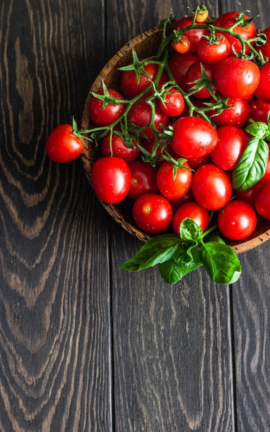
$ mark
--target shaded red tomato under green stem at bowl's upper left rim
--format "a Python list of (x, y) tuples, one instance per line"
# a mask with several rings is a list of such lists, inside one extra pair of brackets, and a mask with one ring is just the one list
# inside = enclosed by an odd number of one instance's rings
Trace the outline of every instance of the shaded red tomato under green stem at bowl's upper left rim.
[[(154, 81), (157, 75), (158, 65), (155, 63), (148, 63), (144, 66), (144, 71), (145, 73), (141, 73), (138, 80), (135, 70), (122, 70), (121, 90), (127, 99), (133, 99), (133, 97), (139, 95), (151, 85), (151, 81)], [(168, 81), (168, 79), (163, 72), (158, 86), (161, 88), (166, 81)]]

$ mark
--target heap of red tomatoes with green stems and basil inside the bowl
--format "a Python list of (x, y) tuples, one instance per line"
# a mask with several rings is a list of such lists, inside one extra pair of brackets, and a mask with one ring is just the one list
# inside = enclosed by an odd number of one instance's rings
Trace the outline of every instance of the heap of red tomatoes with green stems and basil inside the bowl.
[(270, 30), (243, 12), (207, 17), (170, 17), (156, 57), (134, 50), (120, 87), (92, 94), (92, 183), (108, 204), (131, 202), (146, 233), (180, 235), (191, 218), (240, 240), (270, 219)]

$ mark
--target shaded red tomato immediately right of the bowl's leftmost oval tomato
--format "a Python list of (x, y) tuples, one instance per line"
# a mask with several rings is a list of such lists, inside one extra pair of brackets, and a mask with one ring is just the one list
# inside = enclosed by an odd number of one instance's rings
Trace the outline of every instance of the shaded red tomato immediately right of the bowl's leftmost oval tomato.
[(157, 193), (157, 168), (144, 161), (134, 161), (131, 168), (131, 187), (128, 198), (137, 199), (144, 193)]

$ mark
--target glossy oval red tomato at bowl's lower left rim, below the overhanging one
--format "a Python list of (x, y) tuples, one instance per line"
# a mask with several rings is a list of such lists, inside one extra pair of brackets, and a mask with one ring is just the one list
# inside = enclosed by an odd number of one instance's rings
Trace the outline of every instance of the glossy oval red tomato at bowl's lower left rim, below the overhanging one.
[(120, 157), (101, 157), (93, 164), (91, 179), (97, 197), (108, 204), (115, 204), (128, 193), (131, 170)]

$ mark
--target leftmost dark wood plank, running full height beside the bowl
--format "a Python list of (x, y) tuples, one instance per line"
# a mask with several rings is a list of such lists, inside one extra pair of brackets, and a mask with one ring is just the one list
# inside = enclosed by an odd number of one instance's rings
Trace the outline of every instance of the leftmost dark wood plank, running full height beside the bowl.
[(1, 2), (1, 431), (112, 429), (107, 217), (44, 153), (104, 64), (100, 6)]

